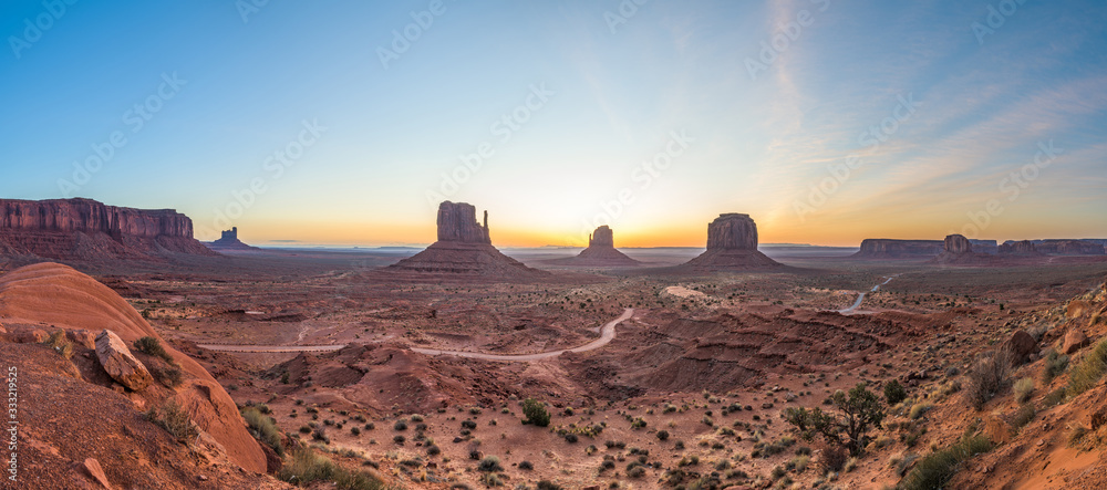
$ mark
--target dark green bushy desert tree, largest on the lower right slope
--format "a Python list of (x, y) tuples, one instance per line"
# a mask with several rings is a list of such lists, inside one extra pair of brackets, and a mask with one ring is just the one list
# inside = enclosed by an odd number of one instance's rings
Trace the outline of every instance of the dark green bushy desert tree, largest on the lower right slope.
[(872, 427), (879, 428), (884, 419), (880, 398), (865, 383), (860, 383), (848, 394), (835, 392), (830, 396), (830, 403), (841, 413), (827, 413), (821, 408), (788, 408), (784, 410), (784, 417), (788, 424), (799, 429), (799, 436), (805, 440), (819, 435), (831, 445), (849, 449), (851, 456), (860, 456), (868, 442), (866, 434)]

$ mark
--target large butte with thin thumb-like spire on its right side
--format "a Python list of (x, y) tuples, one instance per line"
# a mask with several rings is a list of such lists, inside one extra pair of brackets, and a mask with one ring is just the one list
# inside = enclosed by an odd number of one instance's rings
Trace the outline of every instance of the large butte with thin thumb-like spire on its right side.
[(492, 246), (488, 211), (477, 222), (476, 208), (466, 202), (438, 205), (438, 241), (385, 268), (387, 272), (476, 275), (493, 279), (539, 279), (549, 272), (531, 269)]

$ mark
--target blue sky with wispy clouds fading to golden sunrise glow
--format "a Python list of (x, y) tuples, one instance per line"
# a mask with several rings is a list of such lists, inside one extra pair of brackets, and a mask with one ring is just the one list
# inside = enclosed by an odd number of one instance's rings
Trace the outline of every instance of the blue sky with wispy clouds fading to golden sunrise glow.
[[(72, 3), (70, 3), (72, 2)], [(0, 197), (201, 240), (1107, 238), (1103, 1), (6, 1)]]

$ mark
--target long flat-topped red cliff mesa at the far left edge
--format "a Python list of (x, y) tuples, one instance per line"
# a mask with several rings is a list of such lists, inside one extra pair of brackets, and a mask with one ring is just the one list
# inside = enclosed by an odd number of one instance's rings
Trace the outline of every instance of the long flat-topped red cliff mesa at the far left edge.
[(0, 199), (0, 254), (56, 260), (216, 256), (172, 209), (105, 206), (91, 199)]

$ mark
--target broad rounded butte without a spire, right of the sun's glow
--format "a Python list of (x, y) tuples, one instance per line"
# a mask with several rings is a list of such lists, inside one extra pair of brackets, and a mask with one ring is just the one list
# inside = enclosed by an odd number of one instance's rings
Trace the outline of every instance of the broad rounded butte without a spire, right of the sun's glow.
[(749, 215), (727, 212), (707, 225), (707, 251), (684, 263), (705, 270), (756, 270), (782, 267), (757, 251), (757, 225)]

